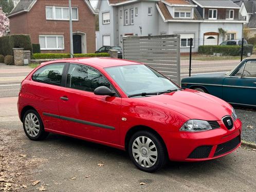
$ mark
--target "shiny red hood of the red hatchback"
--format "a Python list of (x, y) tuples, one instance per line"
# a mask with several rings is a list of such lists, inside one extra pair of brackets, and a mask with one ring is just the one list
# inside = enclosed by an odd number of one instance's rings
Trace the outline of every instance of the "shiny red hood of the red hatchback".
[(170, 108), (189, 119), (217, 121), (232, 113), (232, 107), (227, 102), (191, 89), (138, 99)]

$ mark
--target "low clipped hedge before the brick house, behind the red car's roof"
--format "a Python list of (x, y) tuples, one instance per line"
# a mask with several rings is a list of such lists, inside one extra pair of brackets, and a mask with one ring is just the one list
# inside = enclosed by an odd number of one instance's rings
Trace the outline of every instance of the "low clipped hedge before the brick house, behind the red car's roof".
[[(109, 56), (108, 53), (82, 53), (74, 54), (74, 57), (103, 57)], [(70, 58), (69, 53), (33, 53), (33, 59), (65, 59)]]

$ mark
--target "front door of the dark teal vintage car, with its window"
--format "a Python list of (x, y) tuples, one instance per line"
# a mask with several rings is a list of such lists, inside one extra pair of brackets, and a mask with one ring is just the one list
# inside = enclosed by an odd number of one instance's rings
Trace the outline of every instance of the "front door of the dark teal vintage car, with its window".
[(223, 99), (233, 104), (256, 106), (256, 60), (242, 63), (223, 82)]

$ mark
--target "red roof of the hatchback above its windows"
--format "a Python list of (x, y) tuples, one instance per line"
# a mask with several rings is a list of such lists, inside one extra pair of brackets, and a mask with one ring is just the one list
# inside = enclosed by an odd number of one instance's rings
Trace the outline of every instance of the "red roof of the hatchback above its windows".
[(101, 68), (105, 67), (115, 67), (115, 66), (122, 66), (122, 65), (138, 65), (141, 63), (129, 61), (129, 60), (122, 60), (122, 59), (115, 59), (110, 57), (83, 57), (83, 58), (70, 58), (70, 59), (64, 59), (64, 60), (55, 60), (50, 62), (42, 63), (42, 65), (47, 65), (51, 63), (79, 63), (79, 64), (85, 64), (90, 66), (98, 66)]

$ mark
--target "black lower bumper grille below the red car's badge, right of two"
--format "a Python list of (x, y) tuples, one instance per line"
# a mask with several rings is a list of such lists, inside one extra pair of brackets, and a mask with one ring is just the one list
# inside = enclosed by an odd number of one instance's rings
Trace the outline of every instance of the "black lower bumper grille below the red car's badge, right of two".
[(235, 147), (237, 147), (237, 145), (239, 145), (240, 142), (241, 142), (240, 136), (237, 136), (236, 138), (234, 138), (226, 143), (222, 143), (222, 144), (218, 145), (214, 152), (214, 157), (220, 156), (226, 152), (233, 150)]

